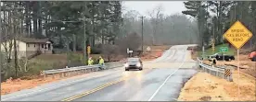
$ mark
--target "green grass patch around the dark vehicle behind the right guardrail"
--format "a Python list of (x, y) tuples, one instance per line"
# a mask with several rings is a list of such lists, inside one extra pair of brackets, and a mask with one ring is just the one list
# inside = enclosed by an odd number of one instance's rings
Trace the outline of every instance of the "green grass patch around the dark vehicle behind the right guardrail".
[[(228, 44), (222, 44), (222, 45), (218, 45), (218, 46), (215, 46), (215, 51), (212, 51), (212, 49), (207, 49), (205, 50), (205, 55), (211, 55), (211, 54), (214, 54), (214, 53), (217, 53), (217, 52), (220, 52), (220, 48), (221, 47), (228, 47)], [(228, 55), (235, 55), (235, 52), (236, 49), (234, 48), (228, 48), (228, 51), (227, 52), (224, 52), (224, 54), (228, 54)], [(198, 51), (198, 55), (202, 55), (202, 51)]]

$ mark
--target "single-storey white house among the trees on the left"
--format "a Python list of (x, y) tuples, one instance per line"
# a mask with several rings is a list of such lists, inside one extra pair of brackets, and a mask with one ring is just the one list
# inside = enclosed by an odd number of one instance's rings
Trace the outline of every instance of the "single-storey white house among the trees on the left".
[[(49, 39), (20, 38), (17, 40), (18, 58), (31, 57), (38, 53), (52, 53), (53, 42)], [(14, 55), (14, 40), (6, 40), (1, 44), (1, 50)], [(11, 46), (9, 46), (11, 45)], [(11, 51), (9, 51), (12, 48)]]

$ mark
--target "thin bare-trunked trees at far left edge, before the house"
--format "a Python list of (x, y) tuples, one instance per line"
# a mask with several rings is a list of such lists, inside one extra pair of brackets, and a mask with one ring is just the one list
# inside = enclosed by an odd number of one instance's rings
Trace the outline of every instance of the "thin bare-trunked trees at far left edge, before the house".
[[(1, 43), (1, 46), (3, 46), (4, 51), (6, 53), (6, 65), (8, 70), (8, 74), (11, 74), (11, 68), (12, 68), (12, 61), (11, 59), (14, 59), (14, 68), (15, 68), (15, 76), (18, 76), (19, 73), (19, 38), (21, 36), (22, 32), (22, 7), (19, 7), (20, 2), (5, 2), (3, 14), (4, 14), (4, 20), (1, 21), (1, 23), (4, 24), (3, 26), (3, 43)], [(1, 12), (2, 13), (2, 12)], [(13, 54), (14, 53), (14, 54)]]

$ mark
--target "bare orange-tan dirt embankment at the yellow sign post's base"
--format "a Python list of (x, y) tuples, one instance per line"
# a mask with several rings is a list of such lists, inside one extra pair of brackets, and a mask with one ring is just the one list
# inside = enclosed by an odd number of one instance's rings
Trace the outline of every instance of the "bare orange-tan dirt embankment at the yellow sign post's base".
[[(256, 101), (255, 78), (240, 74), (233, 76), (234, 82), (212, 76), (207, 73), (198, 73), (193, 76), (183, 87), (179, 101)], [(238, 98), (238, 85), (240, 95)]]

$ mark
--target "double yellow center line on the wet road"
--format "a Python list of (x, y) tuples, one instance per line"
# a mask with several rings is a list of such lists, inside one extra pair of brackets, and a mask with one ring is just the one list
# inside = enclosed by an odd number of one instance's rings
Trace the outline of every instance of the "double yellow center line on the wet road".
[[(147, 71), (148, 71), (148, 70), (147, 70)], [(147, 73), (147, 71), (146, 71), (145, 73)], [(136, 74), (136, 75), (138, 75), (138, 74)], [(79, 94), (79, 95), (76, 95), (76, 96), (70, 96), (70, 97), (65, 98), (65, 99), (63, 99), (63, 100), (61, 100), (61, 101), (72, 101), (72, 100), (77, 99), (77, 98), (80, 98), (80, 97), (82, 97), (82, 96), (90, 95), (90, 94), (92, 94), (92, 93), (95, 93), (96, 91), (99, 91), (99, 90), (101, 90), (101, 89), (104, 89), (104, 88), (106, 88), (106, 87), (108, 87), (108, 86), (110, 86), (110, 85), (118, 84), (118, 83), (120, 83), (120, 82), (122, 82), (122, 81), (124, 81), (124, 80), (128, 80), (128, 79), (130, 79), (130, 78), (132, 78), (132, 77), (133, 77), (133, 75), (126, 76), (126, 77), (122, 77), (122, 78), (120, 78), (119, 80), (116, 80), (116, 81), (113, 81), (113, 82), (109, 82), (109, 83), (104, 84), (104, 85), (99, 85), (99, 86), (97, 86), (96, 88), (94, 88), (94, 89), (92, 89), (92, 90), (83, 92), (82, 94)]]

